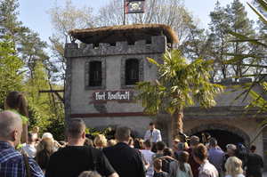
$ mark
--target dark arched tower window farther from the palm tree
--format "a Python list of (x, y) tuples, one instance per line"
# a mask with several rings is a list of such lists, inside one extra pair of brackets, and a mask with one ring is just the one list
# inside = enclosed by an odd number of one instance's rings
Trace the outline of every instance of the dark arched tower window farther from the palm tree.
[(102, 84), (101, 61), (91, 61), (89, 63), (89, 86), (101, 86)]

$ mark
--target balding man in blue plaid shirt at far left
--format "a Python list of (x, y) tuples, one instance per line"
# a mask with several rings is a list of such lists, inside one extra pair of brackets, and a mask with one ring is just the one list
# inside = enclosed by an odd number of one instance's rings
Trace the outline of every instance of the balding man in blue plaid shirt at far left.
[[(44, 177), (36, 161), (21, 155), (15, 147), (20, 143), (22, 120), (12, 111), (0, 113), (0, 176), (1, 177)], [(29, 174), (30, 173), (30, 174)]]

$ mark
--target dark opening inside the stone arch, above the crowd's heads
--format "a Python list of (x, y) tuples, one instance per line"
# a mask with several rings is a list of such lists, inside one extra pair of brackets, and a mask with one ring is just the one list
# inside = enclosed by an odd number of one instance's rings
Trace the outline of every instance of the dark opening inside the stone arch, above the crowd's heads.
[(214, 137), (218, 141), (218, 145), (223, 149), (225, 149), (225, 146), (227, 144), (235, 144), (237, 145), (239, 142), (244, 144), (244, 139), (241, 138), (239, 135), (235, 133), (230, 133), (223, 130), (206, 130), (200, 133), (195, 133), (200, 138), (200, 141), (202, 142), (202, 133), (209, 133), (211, 137)]

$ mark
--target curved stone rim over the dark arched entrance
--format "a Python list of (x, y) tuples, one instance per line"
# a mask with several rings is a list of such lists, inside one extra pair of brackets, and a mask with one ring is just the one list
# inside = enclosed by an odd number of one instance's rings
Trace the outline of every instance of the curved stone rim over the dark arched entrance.
[(224, 132), (238, 135), (240, 138), (244, 140), (245, 145), (249, 145), (249, 142), (250, 142), (250, 137), (247, 135), (247, 133), (245, 133), (238, 127), (231, 126), (231, 125), (223, 125), (223, 124), (199, 125), (197, 127), (190, 129), (190, 131), (188, 131), (187, 134), (193, 135), (193, 134), (202, 133), (205, 131), (224, 131)]

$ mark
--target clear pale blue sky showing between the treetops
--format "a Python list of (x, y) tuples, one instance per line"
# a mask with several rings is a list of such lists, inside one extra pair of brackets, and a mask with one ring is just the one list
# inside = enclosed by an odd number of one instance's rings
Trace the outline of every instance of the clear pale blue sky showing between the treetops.
[[(52, 36), (53, 28), (51, 26), (48, 10), (53, 7), (56, 0), (19, 0), (20, 16), (19, 19), (25, 26), (36, 31), (43, 40), (48, 41), (48, 37)], [(102, 5), (108, 4), (110, 0), (72, 0), (74, 4), (87, 4), (93, 7), (96, 12)], [(242, 3), (251, 0), (240, 0)], [(64, 4), (65, 0), (57, 0), (57, 4)], [(209, 22), (208, 14), (213, 11), (216, 0), (184, 0), (186, 8), (200, 20), (199, 25), (206, 28)], [(220, 0), (220, 3), (230, 4), (231, 0)], [(246, 4), (247, 7), (247, 4)], [(255, 14), (247, 7), (247, 12), (252, 19)]]

